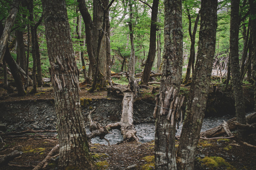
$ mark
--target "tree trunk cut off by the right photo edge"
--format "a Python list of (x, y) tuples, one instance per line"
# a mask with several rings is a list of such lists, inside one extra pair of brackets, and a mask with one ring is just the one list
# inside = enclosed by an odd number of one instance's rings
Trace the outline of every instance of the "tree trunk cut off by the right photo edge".
[(252, 18), (252, 80), (254, 81), (254, 110), (256, 110), (256, 2), (249, 0)]

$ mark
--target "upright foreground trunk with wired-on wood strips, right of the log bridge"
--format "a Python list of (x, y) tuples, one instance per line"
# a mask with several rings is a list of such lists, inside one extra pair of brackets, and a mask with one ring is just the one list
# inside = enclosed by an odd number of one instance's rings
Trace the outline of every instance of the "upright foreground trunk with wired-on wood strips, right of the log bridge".
[(173, 109), (172, 103), (177, 100), (179, 104), (180, 100), (183, 53), (181, 0), (165, 0), (164, 13), (164, 66), (159, 96), (156, 96), (155, 110), (157, 109), (157, 112), (154, 112), (154, 117), (156, 117), (155, 165), (156, 169), (175, 170), (177, 169), (175, 126), (180, 110), (178, 108)]

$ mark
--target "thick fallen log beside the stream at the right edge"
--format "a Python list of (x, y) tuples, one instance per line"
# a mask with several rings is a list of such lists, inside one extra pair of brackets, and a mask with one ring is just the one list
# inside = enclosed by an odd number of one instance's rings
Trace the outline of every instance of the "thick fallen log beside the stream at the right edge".
[[(238, 126), (240, 126), (240, 127), (243, 126), (245, 128), (254, 129), (254, 126), (252, 126), (251, 124), (256, 122), (256, 112), (252, 113), (251, 115), (246, 116), (246, 122), (247, 122), (247, 124), (239, 124), (238, 122), (236, 122), (236, 117), (232, 118), (227, 121), (228, 129), (230, 131), (234, 131), (234, 130), (236, 130), (236, 128)], [(226, 134), (226, 131), (223, 126), (225, 126), (225, 125), (220, 124), (219, 126), (216, 126), (212, 129), (201, 132), (200, 136), (206, 137), (206, 138), (214, 138), (214, 137), (219, 137), (221, 135), (224, 135), (224, 134)]]

